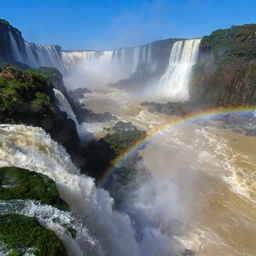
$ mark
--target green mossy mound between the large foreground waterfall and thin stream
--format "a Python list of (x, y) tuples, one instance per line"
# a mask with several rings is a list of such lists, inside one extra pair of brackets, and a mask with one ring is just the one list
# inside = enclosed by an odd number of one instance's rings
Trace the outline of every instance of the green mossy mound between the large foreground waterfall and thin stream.
[(49, 177), (19, 167), (0, 168), (0, 200), (31, 199), (69, 211), (55, 182)]

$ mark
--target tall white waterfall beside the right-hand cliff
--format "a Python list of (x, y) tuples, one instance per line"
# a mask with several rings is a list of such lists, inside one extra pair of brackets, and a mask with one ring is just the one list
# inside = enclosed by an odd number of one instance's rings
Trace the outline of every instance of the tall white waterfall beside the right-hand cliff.
[(158, 86), (164, 96), (178, 101), (189, 100), (189, 77), (200, 42), (201, 39), (190, 39), (173, 44), (169, 65)]

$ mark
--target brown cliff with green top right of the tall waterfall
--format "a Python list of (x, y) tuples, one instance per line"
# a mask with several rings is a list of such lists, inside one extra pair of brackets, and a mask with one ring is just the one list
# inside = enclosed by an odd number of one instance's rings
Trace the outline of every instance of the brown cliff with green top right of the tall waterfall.
[(232, 26), (201, 40), (192, 100), (218, 106), (256, 104), (256, 25)]

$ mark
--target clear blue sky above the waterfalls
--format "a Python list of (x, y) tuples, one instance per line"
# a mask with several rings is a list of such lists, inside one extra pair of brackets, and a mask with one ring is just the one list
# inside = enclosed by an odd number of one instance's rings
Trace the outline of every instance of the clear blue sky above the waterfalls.
[(114, 49), (256, 23), (256, 0), (0, 0), (0, 18), (30, 42)]

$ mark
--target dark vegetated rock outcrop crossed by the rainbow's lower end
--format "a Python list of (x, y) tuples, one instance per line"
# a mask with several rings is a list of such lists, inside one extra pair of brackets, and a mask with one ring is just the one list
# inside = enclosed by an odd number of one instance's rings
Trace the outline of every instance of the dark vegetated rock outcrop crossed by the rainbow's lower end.
[[(131, 125), (127, 124), (122, 127), (131, 128)], [(112, 161), (123, 154), (126, 148), (144, 137), (146, 137), (146, 132), (136, 128), (132, 131), (108, 133), (98, 141), (90, 141), (83, 145), (84, 169), (91, 177), (96, 178), (96, 183), (103, 185), (109, 191), (114, 199), (115, 207), (119, 207), (126, 200), (132, 200), (131, 192), (135, 191), (138, 183), (147, 178), (149, 174), (143, 166), (138, 166), (143, 159), (137, 151), (126, 157), (119, 166), (114, 167)], [(108, 181), (102, 184), (100, 183), (101, 177), (107, 168), (114, 170), (108, 177)]]

